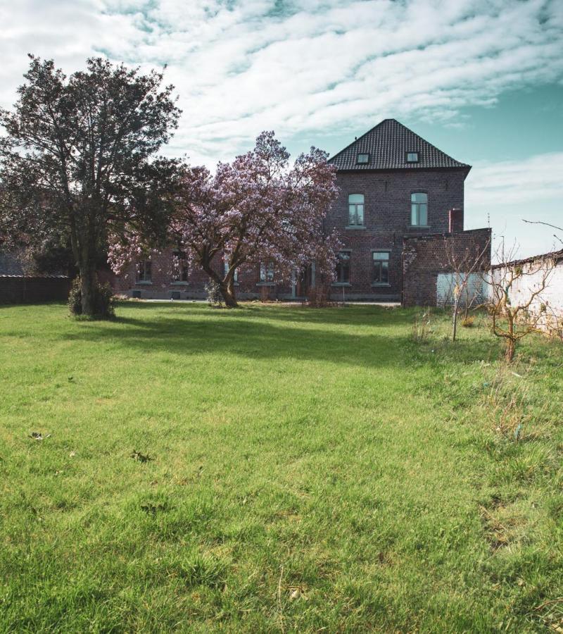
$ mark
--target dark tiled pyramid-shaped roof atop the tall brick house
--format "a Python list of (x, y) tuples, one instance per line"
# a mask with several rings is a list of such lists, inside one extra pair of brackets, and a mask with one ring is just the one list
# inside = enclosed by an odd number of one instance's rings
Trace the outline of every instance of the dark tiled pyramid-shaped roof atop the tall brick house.
[[(418, 163), (407, 163), (407, 152), (418, 152)], [(369, 162), (358, 164), (358, 154), (369, 154)], [(339, 170), (396, 170), (420, 168), (465, 168), (445, 152), (425, 141), (396, 119), (384, 119), (365, 135), (350, 143), (329, 163)]]

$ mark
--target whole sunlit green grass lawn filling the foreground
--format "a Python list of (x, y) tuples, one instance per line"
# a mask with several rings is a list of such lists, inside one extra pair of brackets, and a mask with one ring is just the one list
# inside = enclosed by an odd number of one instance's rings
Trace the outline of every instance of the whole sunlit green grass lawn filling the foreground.
[(561, 344), (117, 313), (0, 309), (0, 631), (563, 631)]

